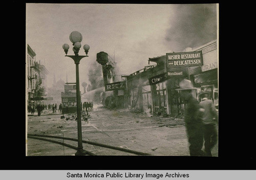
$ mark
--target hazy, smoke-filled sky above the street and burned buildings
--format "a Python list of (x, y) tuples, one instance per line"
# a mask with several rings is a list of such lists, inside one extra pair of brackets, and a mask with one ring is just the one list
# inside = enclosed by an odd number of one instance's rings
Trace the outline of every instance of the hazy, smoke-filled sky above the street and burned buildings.
[[(182, 52), (217, 39), (216, 4), (26, 4), (26, 44), (45, 65), (47, 86), (58, 81), (75, 83), (75, 64), (62, 49), (78, 31), (88, 56), (79, 64), (80, 85), (89, 82), (96, 54), (115, 58), (120, 74), (131, 74), (148, 65), (148, 58)], [(86, 55), (82, 47), (79, 55)], [(151, 62), (151, 65), (155, 63)], [(89, 74), (90, 75), (90, 74)], [(100, 75), (100, 74), (97, 74)], [(80, 88), (81, 89), (81, 88)]]

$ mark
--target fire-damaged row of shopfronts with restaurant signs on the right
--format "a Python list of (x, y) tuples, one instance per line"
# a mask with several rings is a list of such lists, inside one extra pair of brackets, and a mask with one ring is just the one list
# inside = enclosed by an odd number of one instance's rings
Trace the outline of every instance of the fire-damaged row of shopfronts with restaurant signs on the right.
[(127, 105), (151, 115), (179, 115), (184, 111), (184, 102), (175, 89), (179, 88), (181, 80), (189, 79), (197, 88), (196, 96), (202, 91), (209, 91), (218, 106), (217, 40), (188, 47), (182, 53), (149, 58), (150, 62), (157, 64), (123, 76), (126, 78)]

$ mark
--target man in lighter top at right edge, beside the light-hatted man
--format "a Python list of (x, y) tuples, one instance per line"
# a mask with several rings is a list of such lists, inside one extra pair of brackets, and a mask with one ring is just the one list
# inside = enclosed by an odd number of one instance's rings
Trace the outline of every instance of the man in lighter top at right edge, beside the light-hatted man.
[(209, 92), (202, 92), (199, 95), (201, 98), (200, 105), (203, 107), (203, 123), (204, 123), (204, 151), (206, 156), (211, 155), (211, 149), (217, 144), (217, 122), (218, 114), (214, 107), (214, 102), (209, 99)]

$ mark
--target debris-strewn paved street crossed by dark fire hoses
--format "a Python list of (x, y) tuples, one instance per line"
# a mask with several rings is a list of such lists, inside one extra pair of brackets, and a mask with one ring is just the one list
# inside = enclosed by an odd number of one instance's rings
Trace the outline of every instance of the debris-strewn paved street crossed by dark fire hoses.
[[(129, 110), (95, 108), (88, 121), (82, 120), (82, 140), (150, 153), (155, 156), (189, 156), (183, 119), (148, 117)], [(42, 114), (28, 116), (27, 132), (77, 139), (77, 121), (71, 115)], [(45, 137), (42, 137), (45, 138)], [(48, 138), (49, 139), (49, 138)], [(52, 140), (77, 147), (77, 142)], [(98, 156), (136, 156), (133, 153), (83, 143), (83, 149)], [(60, 144), (28, 138), (27, 156), (74, 156), (76, 149)], [(218, 156), (218, 146), (212, 150)]]

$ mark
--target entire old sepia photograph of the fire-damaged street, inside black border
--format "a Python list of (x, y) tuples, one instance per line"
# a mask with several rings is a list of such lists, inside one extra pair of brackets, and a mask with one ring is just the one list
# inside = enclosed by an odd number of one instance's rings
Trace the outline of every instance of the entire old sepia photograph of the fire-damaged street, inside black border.
[(219, 157), (217, 3), (26, 3), (25, 79), (26, 157)]

